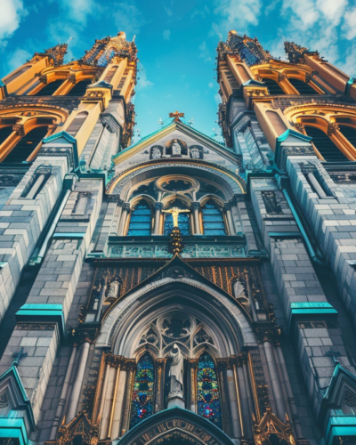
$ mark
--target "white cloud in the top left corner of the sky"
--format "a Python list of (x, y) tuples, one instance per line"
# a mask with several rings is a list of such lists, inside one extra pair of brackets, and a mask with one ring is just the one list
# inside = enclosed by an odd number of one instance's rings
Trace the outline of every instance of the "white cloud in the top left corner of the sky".
[(20, 20), (27, 15), (21, 0), (2, 0), (0, 14), (0, 48), (7, 43), (20, 26)]

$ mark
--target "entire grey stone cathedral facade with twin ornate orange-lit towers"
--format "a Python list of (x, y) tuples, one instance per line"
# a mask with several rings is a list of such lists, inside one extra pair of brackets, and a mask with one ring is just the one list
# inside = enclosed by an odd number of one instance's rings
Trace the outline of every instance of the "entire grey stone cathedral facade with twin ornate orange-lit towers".
[(356, 83), (217, 47), (225, 143), (132, 142), (137, 49), (0, 81), (1, 445), (356, 443)]

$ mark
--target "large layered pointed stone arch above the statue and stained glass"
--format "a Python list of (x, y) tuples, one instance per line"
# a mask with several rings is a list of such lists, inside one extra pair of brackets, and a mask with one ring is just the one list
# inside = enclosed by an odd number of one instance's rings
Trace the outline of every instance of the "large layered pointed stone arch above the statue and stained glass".
[[(221, 357), (238, 354), (244, 345), (255, 345), (247, 310), (230, 295), (189, 277), (158, 279), (154, 286), (147, 284), (117, 300), (104, 317), (98, 345), (110, 344), (115, 354), (133, 357), (150, 324), (173, 311), (183, 312), (205, 326), (213, 320), (214, 347)], [(163, 354), (164, 347), (159, 345), (158, 349)], [(158, 353), (157, 348), (151, 351)]]

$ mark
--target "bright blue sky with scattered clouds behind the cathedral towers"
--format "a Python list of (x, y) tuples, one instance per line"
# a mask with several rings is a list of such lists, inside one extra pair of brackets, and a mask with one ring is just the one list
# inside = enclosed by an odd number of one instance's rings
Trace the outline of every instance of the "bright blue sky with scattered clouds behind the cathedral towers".
[(0, 0), (0, 5), (0, 77), (57, 43), (69, 43), (70, 61), (95, 38), (120, 30), (130, 40), (135, 36), (140, 80), (134, 103), (142, 136), (176, 109), (188, 120), (194, 117), (199, 131), (220, 132), (215, 49), (230, 29), (257, 36), (282, 58), (283, 41), (294, 40), (356, 77), (356, 0)]

